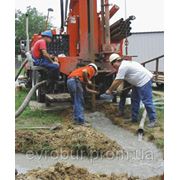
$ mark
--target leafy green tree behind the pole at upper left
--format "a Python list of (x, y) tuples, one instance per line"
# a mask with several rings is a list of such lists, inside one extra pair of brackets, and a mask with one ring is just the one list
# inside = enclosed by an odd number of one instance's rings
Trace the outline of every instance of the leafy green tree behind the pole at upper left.
[[(38, 34), (45, 30), (46, 16), (39, 13), (36, 8), (31, 6), (27, 7), (27, 12), (29, 17), (29, 37), (33, 34)], [(15, 12), (15, 53), (19, 54), (20, 51), (20, 40), (26, 39), (26, 13), (22, 13), (21, 10), (16, 10)], [(48, 29), (52, 27), (52, 24), (48, 23)]]

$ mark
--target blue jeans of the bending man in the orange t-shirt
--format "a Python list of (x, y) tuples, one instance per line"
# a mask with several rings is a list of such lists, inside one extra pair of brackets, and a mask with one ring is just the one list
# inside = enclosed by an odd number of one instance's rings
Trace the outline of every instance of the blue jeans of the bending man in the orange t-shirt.
[(82, 84), (78, 79), (70, 78), (67, 80), (67, 88), (73, 102), (74, 120), (84, 123), (84, 96)]

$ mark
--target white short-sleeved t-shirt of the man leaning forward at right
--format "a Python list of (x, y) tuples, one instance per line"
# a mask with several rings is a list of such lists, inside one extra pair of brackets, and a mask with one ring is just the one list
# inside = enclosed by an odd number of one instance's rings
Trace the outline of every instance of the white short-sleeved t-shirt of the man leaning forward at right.
[(153, 74), (135, 61), (122, 61), (116, 79), (126, 80), (136, 87), (144, 86)]

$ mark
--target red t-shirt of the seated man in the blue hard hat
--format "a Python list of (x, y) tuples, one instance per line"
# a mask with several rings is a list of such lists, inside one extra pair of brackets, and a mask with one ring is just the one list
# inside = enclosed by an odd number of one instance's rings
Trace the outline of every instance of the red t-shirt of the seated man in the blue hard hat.
[(31, 52), (34, 58), (39, 59), (42, 57), (41, 50), (46, 50), (46, 49), (47, 49), (46, 41), (44, 39), (40, 39), (35, 42)]

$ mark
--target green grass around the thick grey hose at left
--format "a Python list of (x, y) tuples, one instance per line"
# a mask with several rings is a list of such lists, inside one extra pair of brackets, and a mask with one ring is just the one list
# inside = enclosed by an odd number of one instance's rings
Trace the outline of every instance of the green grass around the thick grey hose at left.
[[(16, 91), (16, 110), (23, 102), (26, 97), (28, 90)], [(33, 98), (34, 99), (34, 98)], [(28, 106), (24, 112), (17, 118), (16, 126), (43, 126), (43, 125), (51, 125), (54, 123), (62, 122), (62, 117), (58, 112), (45, 112), (42, 110), (31, 110)]]

